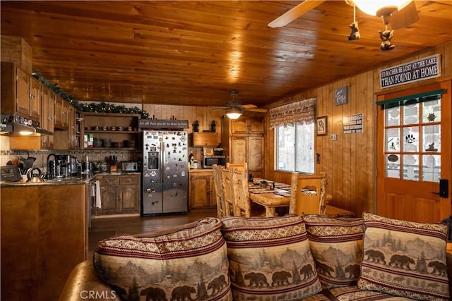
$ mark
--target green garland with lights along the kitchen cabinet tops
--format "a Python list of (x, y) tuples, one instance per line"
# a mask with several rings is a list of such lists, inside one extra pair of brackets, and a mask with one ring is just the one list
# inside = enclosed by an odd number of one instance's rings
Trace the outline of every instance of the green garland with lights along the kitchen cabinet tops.
[(78, 111), (83, 112), (96, 112), (96, 113), (131, 113), (140, 114), (141, 119), (148, 119), (149, 113), (141, 110), (138, 106), (133, 106), (133, 108), (126, 108), (124, 105), (108, 104), (106, 102), (92, 102), (90, 104), (81, 104), (81, 102), (73, 97), (68, 92), (58, 87), (58, 83), (52, 85), (47, 79), (45, 79), (40, 73), (33, 71), (33, 77), (42, 82), (46, 87), (52, 90), (55, 94), (61, 96), (64, 101), (68, 102), (71, 106), (76, 108)]

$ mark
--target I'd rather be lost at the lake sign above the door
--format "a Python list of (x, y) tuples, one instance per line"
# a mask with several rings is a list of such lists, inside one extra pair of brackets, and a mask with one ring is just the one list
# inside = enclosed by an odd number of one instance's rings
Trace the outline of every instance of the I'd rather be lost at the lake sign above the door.
[(441, 55), (434, 54), (380, 70), (380, 86), (383, 89), (439, 76), (441, 76)]

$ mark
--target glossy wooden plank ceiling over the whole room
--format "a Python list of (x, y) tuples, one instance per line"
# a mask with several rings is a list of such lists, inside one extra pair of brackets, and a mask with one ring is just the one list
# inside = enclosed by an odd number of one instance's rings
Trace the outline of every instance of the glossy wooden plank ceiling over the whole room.
[[(280, 28), (301, 1), (1, 1), (1, 35), (22, 36), (32, 66), (81, 101), (223, 106), (280, 97), (452, 40), (452, 1), (415, 1), (419, 20), (381, 51), (381, 18), (326, 1)], [(391, 29), (391, 25), (389, 27)]]

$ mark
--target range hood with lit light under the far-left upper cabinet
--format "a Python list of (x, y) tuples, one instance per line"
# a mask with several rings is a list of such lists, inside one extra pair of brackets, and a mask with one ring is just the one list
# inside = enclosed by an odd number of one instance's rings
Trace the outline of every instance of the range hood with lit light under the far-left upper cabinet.
[(19, 115), (1, 115), (0, 123), (1, 135), (24, 135), (24, 136), (40, 136), (40, 135), (54, 135), (48, 130), (40, 128), (38, 121), (32, 121), (30, 118), (25, 118)]

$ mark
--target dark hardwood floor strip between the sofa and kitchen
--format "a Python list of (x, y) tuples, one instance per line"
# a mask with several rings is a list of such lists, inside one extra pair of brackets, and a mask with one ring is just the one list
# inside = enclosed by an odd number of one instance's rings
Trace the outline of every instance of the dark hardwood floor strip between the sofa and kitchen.
[(117, 235), (133, 235), (165, 230), (204, 217), (216, 217), (217, 209), (191, 209), (188, 214), (164, 216), (114, 216), (100, 217), (92, 221), (88, 231), (88, 260), (93, 258), (97, 243)]

